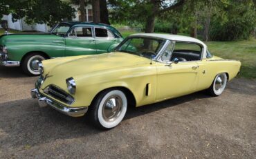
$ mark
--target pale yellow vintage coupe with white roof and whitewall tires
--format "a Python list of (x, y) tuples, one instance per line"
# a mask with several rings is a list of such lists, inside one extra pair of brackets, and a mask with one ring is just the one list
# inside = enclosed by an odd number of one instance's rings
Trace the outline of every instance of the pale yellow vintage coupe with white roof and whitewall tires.
[(86, 113), (103, 129), (116, 127), (127, 106), (143, 106), (207, 89), (220, 95), (241, 63), (212, 56), (192, 37), (136, 34), (114, 52), (45, 60), (31, 90), (39, 106)]

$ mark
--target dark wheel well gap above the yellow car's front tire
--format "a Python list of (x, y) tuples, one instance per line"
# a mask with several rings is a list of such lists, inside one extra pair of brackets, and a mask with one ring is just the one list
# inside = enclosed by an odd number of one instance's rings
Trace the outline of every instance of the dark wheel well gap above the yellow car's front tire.
[(106, 88), (106, 89), (100, 91), (97, 95), (95, 95), (95, 97), (93, 98), (93, 101), (91, 103), (93, 103), (97, 99), (98, 95), (100, 95), (100, 93), (102, 93), (103, 91), (111, 91), (114, 89), (118, 89), (125, 93), (125, 95), (127, 96), (128, 105), (136, 106), (136, 100), (135, 100), (134, 94), (128, 88), (123, 87), (123, 86), (115, 86), (115, 87)]

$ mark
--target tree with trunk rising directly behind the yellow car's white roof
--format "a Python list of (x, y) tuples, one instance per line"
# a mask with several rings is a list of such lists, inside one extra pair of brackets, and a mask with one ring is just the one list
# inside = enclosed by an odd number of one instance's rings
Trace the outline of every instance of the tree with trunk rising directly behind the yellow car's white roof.
[(179, 8), (185, 0), (109, 0), (113, 8), (113, 19), (125, 21), (145, 21), (145, 32), (154, 32), (156, 17)]

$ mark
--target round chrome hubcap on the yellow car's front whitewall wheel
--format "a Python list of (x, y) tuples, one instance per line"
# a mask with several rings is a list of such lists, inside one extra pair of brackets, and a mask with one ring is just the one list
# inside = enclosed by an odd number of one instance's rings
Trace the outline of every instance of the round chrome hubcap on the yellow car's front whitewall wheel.
[(102, 116), (105, 121), (113, 122), (122, 111), (122, 99), (118, 95), (110, 96), (103, 105)]

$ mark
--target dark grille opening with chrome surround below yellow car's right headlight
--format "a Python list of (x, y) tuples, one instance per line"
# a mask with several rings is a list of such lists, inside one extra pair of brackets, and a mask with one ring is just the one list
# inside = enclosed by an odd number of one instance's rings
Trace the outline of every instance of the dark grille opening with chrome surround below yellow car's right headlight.
[(61, 88), (58, 88), (57, 86), (54, 86), (54, 85), (47, 86), (44, 89), (44, 93), (66, 104), (72, 104), (75, 101), (71, 95), (69, 95)]

